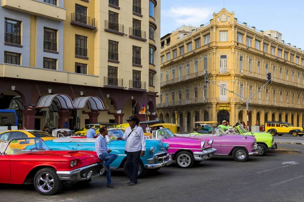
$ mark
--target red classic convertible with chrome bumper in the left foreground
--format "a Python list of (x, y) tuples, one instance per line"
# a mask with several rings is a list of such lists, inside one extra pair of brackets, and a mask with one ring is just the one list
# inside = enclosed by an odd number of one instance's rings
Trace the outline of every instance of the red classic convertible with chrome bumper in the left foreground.
[(104, 171), (95, 151), (52, 151), (41, 138), (0, 142), (0, 183), (34, 184), (43, 195), (65, 181), (88, 183)]

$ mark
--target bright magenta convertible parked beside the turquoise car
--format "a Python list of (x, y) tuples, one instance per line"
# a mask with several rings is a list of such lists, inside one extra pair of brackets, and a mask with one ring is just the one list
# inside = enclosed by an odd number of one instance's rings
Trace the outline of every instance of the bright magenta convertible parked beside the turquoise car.
[[(148, 138), (149, 136), (146, 136)], [(199, 164), (204, 160), (213, 157), (216, 152), (212, 145), (203, 139), (188, 137), (177, 137), (170, 129), (154, 130), (152, 139), (161, 139), (164, 143), (170, 144), (167, 151), (172, 155), (173, 160), (180, 168), (191, 168), (195, 163)]]

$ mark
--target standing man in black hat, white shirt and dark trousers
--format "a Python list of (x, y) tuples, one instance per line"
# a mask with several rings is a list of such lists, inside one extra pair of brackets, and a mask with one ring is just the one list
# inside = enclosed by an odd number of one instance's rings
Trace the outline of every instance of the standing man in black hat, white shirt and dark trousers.
[(137, 173), (139, 168), (140, 156), (144, 156), (145, 151), (145, 138), (143, 130), (138, 127), (139, 120), (131, 116), (128, 120), (130, 127), (125, 131), (123, 137), (117, 140), (126, 141), (125, 152), (127, 153), (127, 168), (129, 173), (130, 182), (129, 186), (137, 183)]

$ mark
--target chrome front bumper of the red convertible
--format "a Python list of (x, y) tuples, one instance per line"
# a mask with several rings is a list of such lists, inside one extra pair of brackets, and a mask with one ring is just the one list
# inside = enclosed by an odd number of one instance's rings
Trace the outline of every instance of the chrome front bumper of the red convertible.
[(78, 182), (84, 180), (95, 180), (103, 174), (102, 162), (91, 164), (71, 171), (57, 171), (60, 180)]

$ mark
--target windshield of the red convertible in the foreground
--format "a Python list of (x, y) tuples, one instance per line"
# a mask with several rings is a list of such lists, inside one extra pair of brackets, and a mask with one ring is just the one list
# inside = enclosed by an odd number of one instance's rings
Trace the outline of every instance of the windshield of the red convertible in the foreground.
[[(1, 146), (0, 146), (1, 147)], [(15, 139), (8, 143), (4, 151), (6, 155), (32, 153), (38, 150), (50, 150), (41, 138)]]

